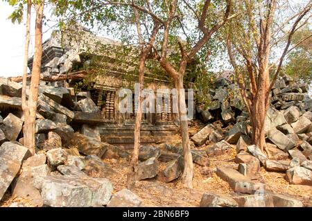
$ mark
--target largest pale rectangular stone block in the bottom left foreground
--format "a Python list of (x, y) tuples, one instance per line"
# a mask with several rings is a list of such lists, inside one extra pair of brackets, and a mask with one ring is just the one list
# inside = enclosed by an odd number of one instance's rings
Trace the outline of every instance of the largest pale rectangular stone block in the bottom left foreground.
[(47, 176), (35, 179), (44, 204), (52, 207), (105, 206), (112, 195), (108, 179)]

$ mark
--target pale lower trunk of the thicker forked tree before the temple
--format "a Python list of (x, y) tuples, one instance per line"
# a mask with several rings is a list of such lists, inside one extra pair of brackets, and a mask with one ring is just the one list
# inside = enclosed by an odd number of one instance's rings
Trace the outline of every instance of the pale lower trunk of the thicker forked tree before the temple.
[(191, 148), (189, 146), (189, 125), (187, 121), (187, 104), (185, 102), (185, 93), (183, 87), (183, 75), (175, 80), (175, 88), (178, 95), (178, 109), (180, 116), (180, 132), (182, 136), (182, 147), (184, 157), (184, 171), (182, 174), (182, 182), (184, 186), (193, 188), (193, 159)]

